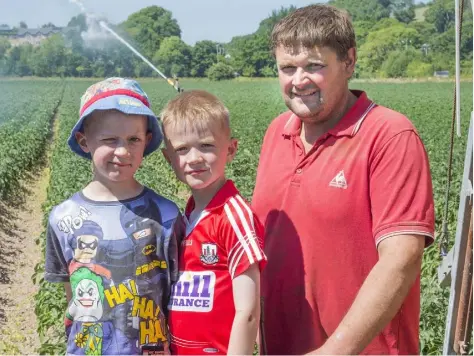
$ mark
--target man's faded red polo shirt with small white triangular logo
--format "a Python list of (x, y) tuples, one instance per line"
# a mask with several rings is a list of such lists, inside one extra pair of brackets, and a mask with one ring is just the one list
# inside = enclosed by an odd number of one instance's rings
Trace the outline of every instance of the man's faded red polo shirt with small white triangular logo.
[[(355, 105), (310, 152), (291, 112), (264, 138), (252, 207), (265, 225), (269, 354), (303, 354), (325, 342), (377, 262), (380, 241), (398, 234), (433, 241), (430, 169), (415, 128), (353, 93)], [(419, 314), (418, 278), (364, 353), (418, 353)]]

